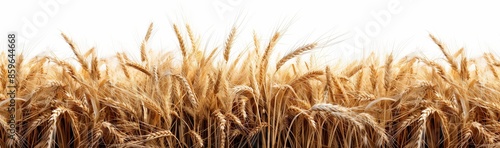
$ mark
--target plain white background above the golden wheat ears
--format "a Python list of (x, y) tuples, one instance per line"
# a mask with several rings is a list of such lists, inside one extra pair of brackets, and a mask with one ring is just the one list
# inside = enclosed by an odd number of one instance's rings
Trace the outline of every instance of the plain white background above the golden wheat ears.
[[(202, 46), (208, 49), (222, 47), (230, 28), (236, 25), (235, 50), (239, 51), (251, 47), (253, 31), (267, 40), (274, 31), (289, 26), (278, 44), (279, 55), (310, 41), (343, 34), (344, 42), (318, 49), (317, 56), (335, 61), (376, 51), (393, 52), (397, 57), (423, 54), (442, 58), (428, 37), (432, 33), (449, 50), (465, 47), (467, 55), (474, 57), (482, 52), (496, 54), (500, 49), (499, 6), (494, 2), (465, 0), (3, 0), (0, 34), (6, 40), (8, 32), (17, 32), (22, 37), (19, 47), (28, 56), (72, 57), (60, 35), (64, 32), (82, 52), (96, 47), (101, 57), (127, 52), (138, 58), (150, 22), (154, 23), (154, 30), (148, 47), (165, 51), (178, 49), (174, 23), (181, 28), (189, 23), (201, 37)], [(391, 13), (392, 7), (398, 11)], [(390, 19), (377, 21), (377, 14), (382, 13), (390, 14)], [(355, 42), (357, 29), (365, 34), (371, 32), (367, 35), (369, 41)], [(233, 52), (231, 56), (237, 54)]]

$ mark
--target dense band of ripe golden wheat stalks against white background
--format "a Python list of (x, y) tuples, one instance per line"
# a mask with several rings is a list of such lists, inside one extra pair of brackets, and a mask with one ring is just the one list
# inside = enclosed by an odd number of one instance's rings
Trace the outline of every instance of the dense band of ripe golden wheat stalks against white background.
[[(189, 25), (172, 27), (180, 54), (147, 49), (151, 24), (137, 61), (124, 53), (101, 59), (93, 48), (80, 53), (65, 34), (74, 59), (18, 55), (18, 133), (3, 134), (9, 113), (2, 109), (0, 146), (500, 146), (500, 61), (492, 54), (450, 53), (430, 35), (440, 60), (372, 55), (314, 65), (300, 55), (317, 42), (271, 57), (282, 31), (269, 40), (254, 34), (250, 50), (234, 50), (240, 30), (233, 28), (219, 48), (202, 49)], [(6, 107), (5, 93), (0, 99)]]

